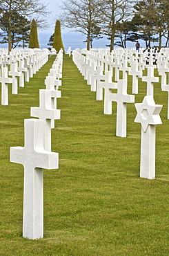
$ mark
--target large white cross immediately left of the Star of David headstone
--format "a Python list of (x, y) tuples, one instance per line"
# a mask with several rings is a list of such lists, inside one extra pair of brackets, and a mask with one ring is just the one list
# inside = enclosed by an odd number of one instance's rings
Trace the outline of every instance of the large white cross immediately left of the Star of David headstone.
[(135, 95), (128, 95), (127, 81), (117, 82), (117, 93), (110, 94), (110, 100), (117, 102), (116, 136), (126, 137), (127, 130), (127, 103), (135, 102)]

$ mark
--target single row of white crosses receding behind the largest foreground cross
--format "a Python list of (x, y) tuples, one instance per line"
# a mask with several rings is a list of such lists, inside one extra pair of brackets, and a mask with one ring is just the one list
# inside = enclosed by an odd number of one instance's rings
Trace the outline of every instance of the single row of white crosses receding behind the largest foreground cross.
[(59, 167), (59, 154), (51, 152), (51, 127), (52, 120), (60, 119), (60, 110), (52, 101), (61, 97), (61, 91), (54, 88), (54, 77), (46, 81), (46, 89), (39, 90), (39, 107), (30, 108), (30, 116), (39, 119), (24, 120), (24, 147), (10, 147), (10, 162), (24, 167), (23, 237), (28, 239), (43, 237), (43, 169)]

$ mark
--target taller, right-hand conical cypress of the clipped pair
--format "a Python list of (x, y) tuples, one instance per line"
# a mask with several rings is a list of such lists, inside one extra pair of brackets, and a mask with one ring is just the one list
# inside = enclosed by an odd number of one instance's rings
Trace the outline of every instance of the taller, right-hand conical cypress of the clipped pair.
[(62, 48), (63, 53), (65, 53), (63, 42), (61, 39), (61, 23), (58, 19), (56, 21), (55, 28), (54, 28), (53, 48), (57, 50), (57, 53), (59, 52), (60, 48)]

